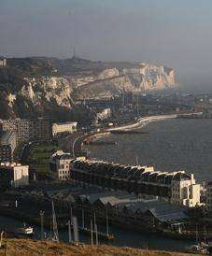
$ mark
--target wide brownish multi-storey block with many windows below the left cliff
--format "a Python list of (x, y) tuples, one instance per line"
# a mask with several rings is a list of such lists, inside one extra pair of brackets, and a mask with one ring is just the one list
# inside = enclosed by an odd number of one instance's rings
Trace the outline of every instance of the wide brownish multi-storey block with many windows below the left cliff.
[(17, 142), (48, 141), (52, 136), (49, 119), (10, 119), (2, 121), (3, 131), (16, 133)]

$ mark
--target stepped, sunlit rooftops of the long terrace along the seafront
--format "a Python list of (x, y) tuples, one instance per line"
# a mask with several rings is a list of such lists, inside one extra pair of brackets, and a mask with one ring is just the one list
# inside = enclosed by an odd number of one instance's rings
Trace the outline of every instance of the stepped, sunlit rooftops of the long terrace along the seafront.
[(83, 172), (94, 175), (105, 176), (109, 178), (132, 179), (141, 182), (160, 183), (163, 185), (171, 185), (172, 181), (190, 180), (192, 175), (188, 175), (185, 171), (177, 172), (161, 172), (154, 171), (153, 167), (140, 165), (122, 165), (107, 163), (102, 161), (80, 161), (73, 160), (72, 167)]

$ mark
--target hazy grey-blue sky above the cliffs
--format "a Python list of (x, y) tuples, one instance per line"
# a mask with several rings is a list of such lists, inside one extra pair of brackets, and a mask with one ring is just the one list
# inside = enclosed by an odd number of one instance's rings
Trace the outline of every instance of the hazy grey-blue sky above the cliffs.
[(142, 61), (212, 92), (211, 0), (0, 0), (0, 55)]

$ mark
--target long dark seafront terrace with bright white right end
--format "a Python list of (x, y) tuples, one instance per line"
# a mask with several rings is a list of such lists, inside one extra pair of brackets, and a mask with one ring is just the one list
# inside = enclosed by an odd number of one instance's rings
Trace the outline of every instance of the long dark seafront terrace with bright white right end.
[(185, 171), (156, 172), (148, 166), (73, 160), (71, 178), (116, 191), (166, 198), (174, 205), (200, 205), (200, 185)]

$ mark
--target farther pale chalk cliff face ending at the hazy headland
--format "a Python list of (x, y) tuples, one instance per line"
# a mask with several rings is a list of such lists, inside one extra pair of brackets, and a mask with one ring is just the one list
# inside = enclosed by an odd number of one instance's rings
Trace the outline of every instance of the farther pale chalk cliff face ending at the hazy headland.
[(125, 92), (146, 92), (176, 86), (175, 71), (163, 65), (137, 64), (106, 69), (100, 76), (73, 78), (77, 98), (106, 98)]

